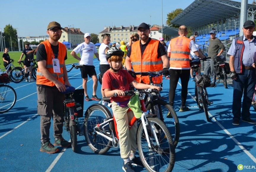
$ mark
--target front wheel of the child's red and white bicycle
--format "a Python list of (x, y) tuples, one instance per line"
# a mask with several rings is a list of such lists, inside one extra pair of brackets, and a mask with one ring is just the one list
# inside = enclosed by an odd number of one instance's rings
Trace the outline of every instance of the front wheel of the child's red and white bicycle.
[(171, 134), (158, 118), (147, 117), (147, 142), (142, 123), (137, 133), (138, 152), (147, 171), (172, 171), (175, 163), (175, 146)]

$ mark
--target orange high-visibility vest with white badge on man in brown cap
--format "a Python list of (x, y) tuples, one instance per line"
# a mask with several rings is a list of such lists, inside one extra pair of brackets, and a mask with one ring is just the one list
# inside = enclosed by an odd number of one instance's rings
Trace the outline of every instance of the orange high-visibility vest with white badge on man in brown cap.
[[(46, 60), (46, 69), (56, 78), (58, 79), (58, 81), (60, 81), (61, 83), (64, 84), (64, 80), (63, 80), (63, 66), (64, 66), (64, 58), (66, 56), (66, 46), (62, 43), (58, 43), (59, 44), (59, 53), (58, 53), (58, 60), (60, 63), (60, 71), (61, 73), (54, 73), (53, 72), (53, 50), (51, 48), (51, 44), (48, 40), (41, 42), (41, 44), (44, 44), (45, 50), (46, 50), (46, 54), (47, 54), (47, 60)], [(48, 80), (47, 78), (45, 78), (43, 76), (43, 74), (40, 72), (40, 68), (38, 67), (37, 71), (36, 71), (36, 84), (39, 85), (48, 85), (48, 86), (55, 86), (55, 84), (53, 82), (51, 82), (50, 80)]]

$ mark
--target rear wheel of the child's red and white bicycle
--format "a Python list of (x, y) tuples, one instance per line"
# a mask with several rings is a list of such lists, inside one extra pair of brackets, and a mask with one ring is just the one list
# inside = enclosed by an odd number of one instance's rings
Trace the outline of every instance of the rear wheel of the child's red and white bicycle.
[[(112, 117), (111, 113), (105, 106), (101, 106), (96, 103), (90, 106), (85, 112), (85, 122), (84, 122), (84, 134), (88, 146), (93, 152), (97, 154), (104, 154), (110, 149), (112, 141), (107, 138), (97, 134), (94, 131), (94, 127), (98, 124), (103, 123), (107, 119)], [(109, 123), (103, 126), (104, 128), (97, 128), (98, 132), (111, 137), (111, 130), (109, 129)]]

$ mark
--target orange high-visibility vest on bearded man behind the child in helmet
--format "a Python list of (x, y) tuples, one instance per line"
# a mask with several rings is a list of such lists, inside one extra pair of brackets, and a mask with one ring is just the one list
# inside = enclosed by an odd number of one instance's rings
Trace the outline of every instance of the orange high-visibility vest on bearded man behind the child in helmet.
[[(140, 41), (136, 41), (132, 44), (132, 51), (130, 55), (130, 59), (133, 66), (134, 72), (159, 72), (163, 70), (163, 62), (160, 57), (158, 57), (158, 44), (159, 41), (157, 40), (150, 40), (150, 42), (147, 44), (146, 49), (143, 52), (143, 55), (141, 57), (141, 50), (140, 50)], [(137, 82), (141, 82), (141, 80), (149, 84), (149, 76), (141, 76), (136, 75), (135, 80)], [(154, 84), (159, 84), (162, 82), (162, 76), (159, 76), (158, 78), (152, 78), (152, 81)]]

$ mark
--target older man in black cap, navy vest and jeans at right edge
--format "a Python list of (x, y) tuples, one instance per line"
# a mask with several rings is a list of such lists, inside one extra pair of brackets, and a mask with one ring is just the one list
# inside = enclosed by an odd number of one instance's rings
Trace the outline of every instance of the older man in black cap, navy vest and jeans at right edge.
[(251, 20), (246, 21), (243, 26), (244, 35), (233, 39), (228, 51), (228, 55), (230, 55), (230, 78), (233, 79), (234, 88), (232, 104), (233, 125), (239, 125), (241, 117), (244, 122), (256, 124), (250, 118), (250, 107), (256, 84), (256, 36), (252, 35), (254, 30), (254, 22)]

